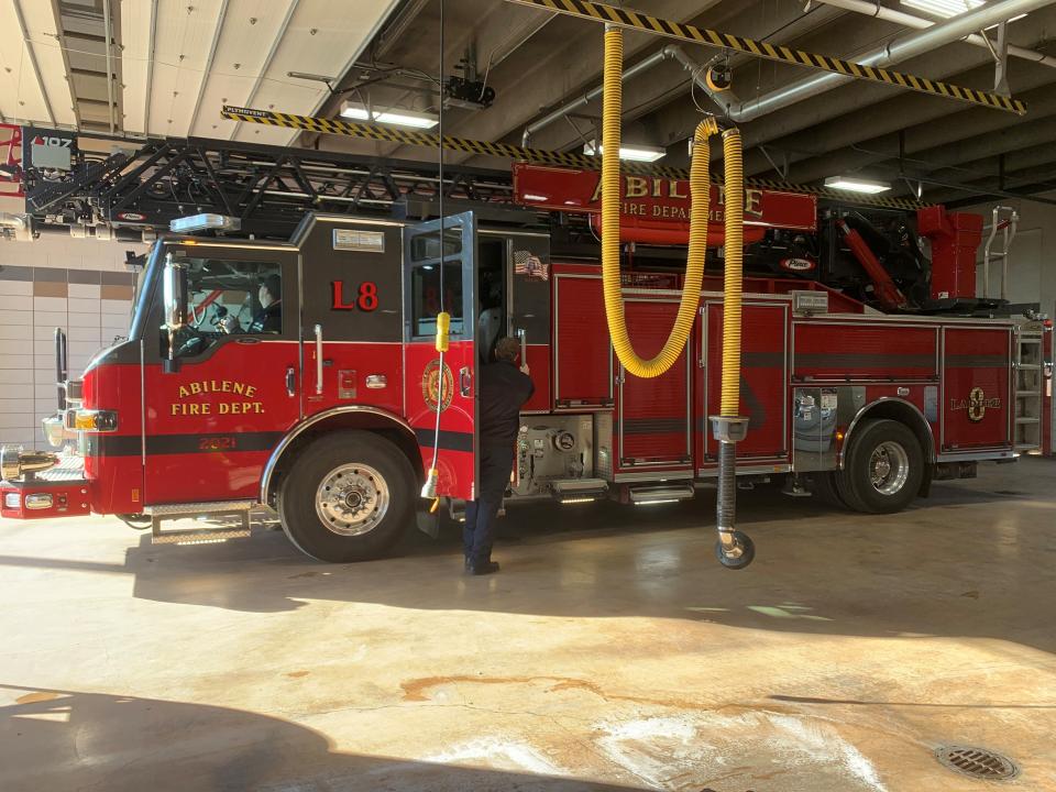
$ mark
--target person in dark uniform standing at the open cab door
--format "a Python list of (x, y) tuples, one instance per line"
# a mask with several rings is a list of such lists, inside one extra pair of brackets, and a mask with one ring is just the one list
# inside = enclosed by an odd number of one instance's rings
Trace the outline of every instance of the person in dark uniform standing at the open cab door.
[(514, 468), (520, 408), (536, 392), (528, 376), (528, 365), (517, 369), (519, 352), (520, 344), (515, 339), (499, 339), (495, 344), (495, 362), (481, 369), (477, 415), (481, 480), (476, 499), (466, 504), (462, 530), (465, 570), (474, 575), (498, 572), (498, 562), (492, 561), (495, 520)]

